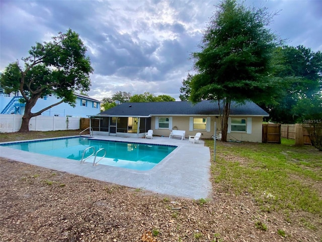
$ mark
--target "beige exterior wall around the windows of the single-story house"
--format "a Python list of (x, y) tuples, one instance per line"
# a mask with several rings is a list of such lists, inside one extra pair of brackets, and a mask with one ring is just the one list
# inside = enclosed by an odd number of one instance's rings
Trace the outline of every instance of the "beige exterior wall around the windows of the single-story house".
[[(169, 136), (172, 129), (176, 130), (185, 130), (186, 131), (186, 138), (189, 135), (195, 135), (196, 133), (200, 132), (202, 139), (211, 139), (212, 135), (214, 134), (214, 123), (216, 122), (216, 128), (218, 134), (221, 130), (220, 127), (220, 118), (216, 116), (159, 116), (159, 117), (172, 117), (172, 127), (170, 129), (155, 129), (155, 122), (156, 117), (151, 117), (151, 129), (153, 130), (153, 135), (156, 136)], [(207, 132), (206, 130), (193, 130), (190, 131), (190, 117), (203, 117), (207, 118), (210, 117), (210, 131)], [(248, 118), (247, 116), (234, 116), (236, 118)], [(209, 119), (208, 119), (209, 120)], [(263, 117), (252, 117), (252, 129), (251, 134), (247, 134), (247, 132), (230, 132), (227, 135), (227, 139), (231, 140), (240, 140), (240, 141), (249, 141), (249, 142), (262, 142), (262, 120)]]

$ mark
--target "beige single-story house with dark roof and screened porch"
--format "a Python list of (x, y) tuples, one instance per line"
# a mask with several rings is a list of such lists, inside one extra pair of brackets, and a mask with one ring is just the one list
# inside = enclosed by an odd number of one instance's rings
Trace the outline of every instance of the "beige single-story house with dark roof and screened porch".
[[(264, 116), (269, 114), (254, 102), (232, 102), (227, 139), (262, 142)], [(210, 100), (195, 105), (189, 101), (126, 102), (90, 118), (94, 134), (109, 136), (143, 138), (153, 130), (154, 136), (169, 137), (172, 130), (184, 130), (186, 137), (200, 132), (201, 138), (210, 139), (221, 129), (218, 103)]]

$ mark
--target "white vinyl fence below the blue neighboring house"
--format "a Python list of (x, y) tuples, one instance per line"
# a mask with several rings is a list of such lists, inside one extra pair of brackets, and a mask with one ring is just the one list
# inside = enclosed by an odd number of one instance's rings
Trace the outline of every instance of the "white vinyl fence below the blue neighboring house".
[[(20, 130), (23, 115), (0, 114), (0, 133)], [(78, 130), (80, 117), (36, 116), (29, 122), (30, 131)]]

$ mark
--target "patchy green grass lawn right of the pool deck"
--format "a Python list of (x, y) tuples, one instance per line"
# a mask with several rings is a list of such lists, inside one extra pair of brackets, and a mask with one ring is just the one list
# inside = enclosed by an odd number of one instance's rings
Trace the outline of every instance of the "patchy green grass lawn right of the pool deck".
[[(206, 145), (212, 151), (213, 141)], [(211, 171), (214, 183), (223, 193), (254, 196), (263, 212), (313, 214), (321, 224), (322, 152), (311, 146), (294, 146), (293, 140), (281, 144), (216, 142), (216, 159)], [(305, 217), (302, 225), (316, 230)]]

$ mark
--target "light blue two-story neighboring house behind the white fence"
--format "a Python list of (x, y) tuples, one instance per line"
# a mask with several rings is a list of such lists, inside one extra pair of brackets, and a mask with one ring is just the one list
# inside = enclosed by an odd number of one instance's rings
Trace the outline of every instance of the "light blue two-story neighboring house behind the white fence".
[[(15, 94), (0, 93), (0, 110), (1, 114), (24, 114), (25, 104), (20, 103), (19, 99), (23, 98)], [(75, 94), (75, 107), (68, 103), (61, 103), (42, 113), (43, 116), (59, 116), (59, 117), (88, 117), (101, 112), (101, 101), (89, 96)], [(57, 103), (58, 99), (55, 95), (48, 95), (44, 98), (39, 98), (36, 105), (32, 108), (32, 112), (38, 112), (41, 109)]]

